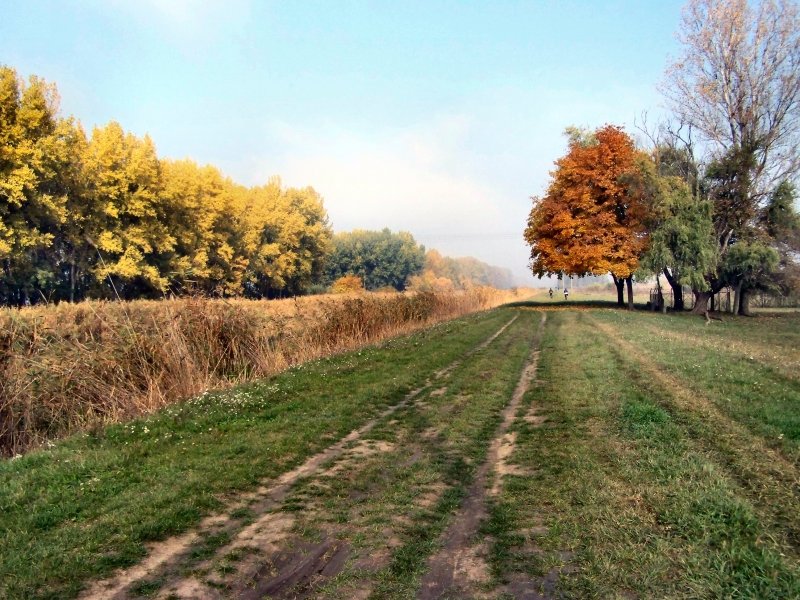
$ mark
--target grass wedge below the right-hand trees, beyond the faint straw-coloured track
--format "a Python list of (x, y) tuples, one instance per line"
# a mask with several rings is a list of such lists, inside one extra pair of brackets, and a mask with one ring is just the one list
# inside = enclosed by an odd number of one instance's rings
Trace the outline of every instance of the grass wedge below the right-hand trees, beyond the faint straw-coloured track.
[[(800, 460), (800, 317), (701, 319), (598, 313), (624, 340), (680, 385)], [(768, 351), (766, 351), (768, 349)]]

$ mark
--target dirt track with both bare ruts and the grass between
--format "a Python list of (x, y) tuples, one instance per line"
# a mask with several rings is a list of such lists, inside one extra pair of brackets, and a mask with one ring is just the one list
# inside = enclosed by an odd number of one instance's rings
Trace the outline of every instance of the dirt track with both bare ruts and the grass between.
[[(154, 545), (139, 565), (95, 583), (82, 597), (392, 597), (395, 592), (380, 588), (381, 574), (398, 568), (398, 557), (419, 529), (417, 522), (430, 520), (448, 501), (455, 486), (437, 465), (450, 463), (472, 463), (473, 474), (455, 515), (442, 521), (438, 535), (438, 530), (428, 533), (432, 555), (423, 561), (417, 597), (542, 597), (535, 591), (541, 581), (487, 589), (487, 546), (478, 539), (488, 499), (505, 475), (518, 474), (519, 467), (508, 461), (515, 439), (511, 425), (516, 418), (544, 420), (517, 414), (535, 379), (546, 319), (543, 315), (532, 328), (538, 315), (524, 315), (526, 329), (518, 322), (520, 314), (448, 367), (432, 372), (400, 403), (302, 465), (241, 495), (197, 530)], [(492, 365), (512, 349), (524, 352), (521, 373), (495, 382)], [(498, 388), (487, 407), (478, 401), (481, 386), (475, 384), (481, 380), (487, 389)], [(479, 409), (483, 412), (471, 412)], [(490, 441), (474, 441), (480, 439), (483, 422), (491, 419), (499, 424), (489, 430)], [(471, 445), (459, 436), (472, 440)], [(483, 456), (479, 464), (470, 452)]]

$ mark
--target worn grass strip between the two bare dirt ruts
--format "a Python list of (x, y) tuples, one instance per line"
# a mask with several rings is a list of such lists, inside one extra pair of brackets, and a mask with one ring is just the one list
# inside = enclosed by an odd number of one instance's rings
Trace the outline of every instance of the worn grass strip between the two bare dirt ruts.
[[(428, 557), (485, 458), (530, 351), (535, 321), (532, 313), (522, 314), (433, 386), (446, 391), (430, 390), (421, 404), (379, 423), (367, 439), (390, 442), (390, 451), (349, 461), (335, 475), (310, 478), (294, 490), (288, 502), (297, 510), (297, 534), (313, 541), (335, 537), (352, 549), (349, 565), (324, 586), (323, 597), (348, 598), (353, 585), (371, 590), (373, 598), (414, 597)], [(420, 503), (426, 495), (430, 502)], [(387, 537), (394, 540), (388, 548)], [(360, 559), (377, 556), (382, 560), (369, 569), (359, 566)]]

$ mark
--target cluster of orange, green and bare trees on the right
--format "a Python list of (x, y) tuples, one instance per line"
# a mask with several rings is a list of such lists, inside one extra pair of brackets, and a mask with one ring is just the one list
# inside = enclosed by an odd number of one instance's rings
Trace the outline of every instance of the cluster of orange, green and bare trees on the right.
[[(756, 290), (800, 289), (800, 11), (789, 1), (690, 0), (667, 70), (674, 115), (642, 126), (568, 128), (525, 239), (534, 274), (610, 273), (617, 300), (632, 281), (663, 275), (695, 311), (723, 287), (734, 312)], [(663, 306), (663, 294), (659, 294)]]

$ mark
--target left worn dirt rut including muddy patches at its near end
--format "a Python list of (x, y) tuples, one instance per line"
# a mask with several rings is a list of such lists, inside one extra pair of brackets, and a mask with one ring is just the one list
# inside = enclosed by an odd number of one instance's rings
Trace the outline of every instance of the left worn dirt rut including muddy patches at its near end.
[[(336, 545), (331, 546), (328, 540), (323, 541), (319, 549), (315, 548), (310, 552), (312, 555), (310, 559), (306, 556), (309, 554), (309, 549), (304, 549), (299, 560), (288, 561), (288, 564), (283, 565), (282, 570), (274, 577), (265, 577), (259, 572), (261, 567), (259, 561), (244, 561), (238, 558), (240, 554), (247, 553), (248, 548), (257, 548), (260, 553), (268, 550), (276, 552), (279, 543), (288, 537), (294, 521), (290, 514), (280, 514), (280, 512), (285, 508), (287, 497), (298, 482), (315, 476), (326, 476), (322, 470), (323, 465), (338, 460), (345, 450), (358, 445), (379, 422), (430, 391), (438, 381), (459, 369), (465, 361), (500, 337), (517, 318), (518, 315), (511, 316), (509, 321), (489, 338), (449, 365), (431, 373), (423, 385), (411, 390), (401, 402), (390, 406), (339, 442), (311, 456), (303, 464), (277, 479), (264, 482), (255, 491), (243, 494), (228, 505), (226, 512), (207, 517), (197, 529), (180, 537), (154, 544), (150, 548), (148, 557), (140, 564), (116, 574), (109, 580), (96, 582), (82, 597), (92, 600), (136, 597), (141, 595), (143, 590), (148, 593), (154, 591), (156, 585), (163, 587), (168, 597), (211, 598), (218, 596), (220, 589), (227, 589), (228, 594), (242, 596), (246, 590), (241, 584), (245, 581), (248, 587), (260, 586), (257, 595), (261, 597), (264, 594), (274, 595), (292, 587), (298, 581), (309, 579), (316, 575), (317, 571), (324, 570), (336, 556), (335, 552), (329, 552), (335, 550)], [(363, 446), (357, 447), (363, 448)], [(358, 452), (362, 456), (366, 453), (369, 453), (369, 447), (366, 451)], [(208, 547), (209, 540), (212, 541), (211, 548)], [(207, 565), (213, 564), (214, 559), (221, 559), (232, 553), (237, 556), (237, 560), (229, 561), (234, 566), (229, 565), (220, 573), (224, 576), (224, 583), (213, 577), (203, 577), (208, 575)], [(193, 573), (189, 576), (180, 573), (180, 571), (186, 572), (187, 569)], [(236, 584), (231, 585), (229, 582), (232, 581)]]

